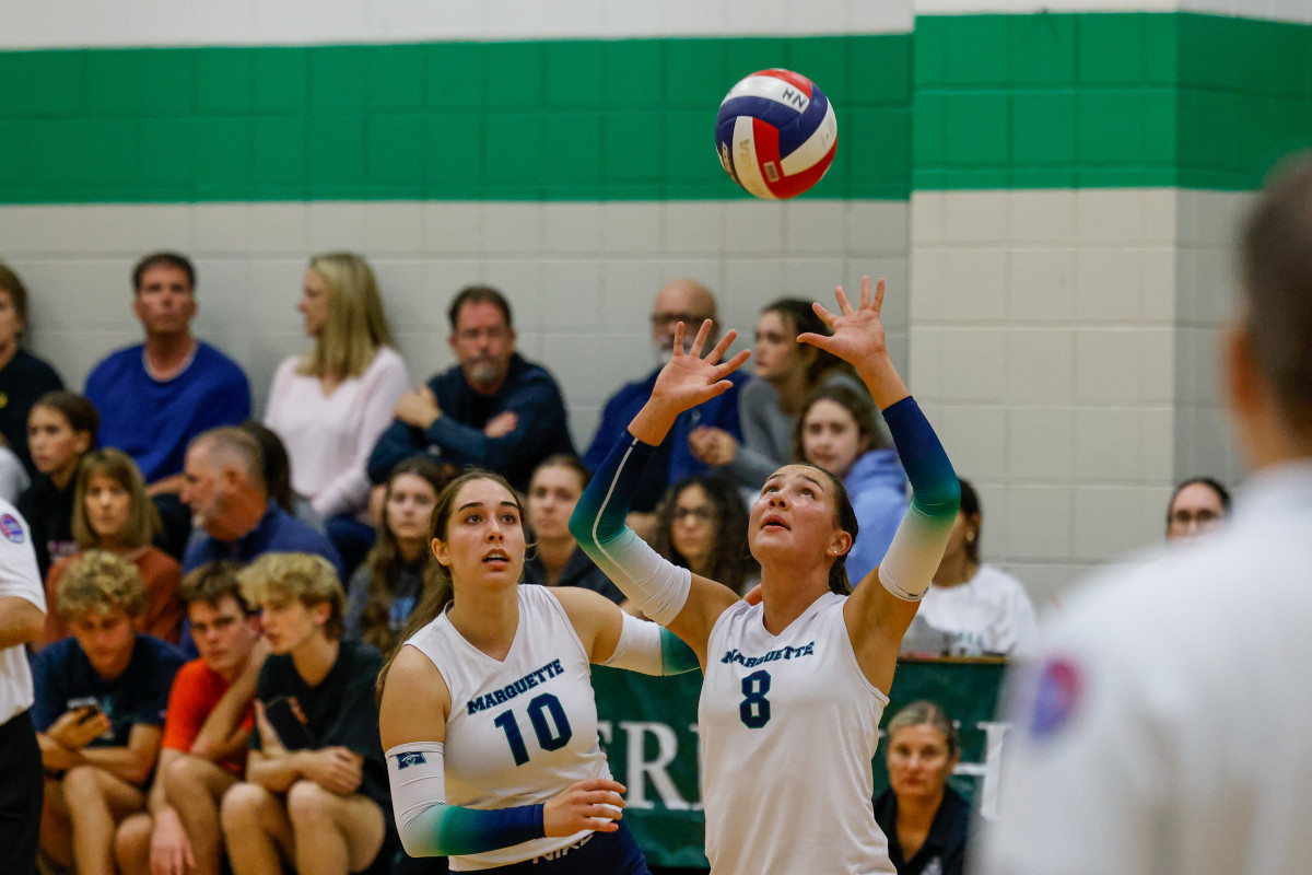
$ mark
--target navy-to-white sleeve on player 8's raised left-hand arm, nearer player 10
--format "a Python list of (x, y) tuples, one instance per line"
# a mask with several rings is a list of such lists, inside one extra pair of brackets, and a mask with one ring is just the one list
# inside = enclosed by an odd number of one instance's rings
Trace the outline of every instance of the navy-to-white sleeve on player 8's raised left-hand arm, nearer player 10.
[(638, 481), (653, 453), (656, 447), (626, 433), (575, 505), (569, 531), (643, 614), (666, 626), (684, 609), (693, 573), (663, 559), (625, 525)]

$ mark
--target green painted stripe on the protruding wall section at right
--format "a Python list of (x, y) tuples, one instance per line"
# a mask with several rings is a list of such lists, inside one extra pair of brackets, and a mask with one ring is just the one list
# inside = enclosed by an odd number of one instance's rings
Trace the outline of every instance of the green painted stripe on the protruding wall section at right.
[(1312, 146), (1305, 25), (945, 16), (914, 39), (914, 189), (1248, 190)]

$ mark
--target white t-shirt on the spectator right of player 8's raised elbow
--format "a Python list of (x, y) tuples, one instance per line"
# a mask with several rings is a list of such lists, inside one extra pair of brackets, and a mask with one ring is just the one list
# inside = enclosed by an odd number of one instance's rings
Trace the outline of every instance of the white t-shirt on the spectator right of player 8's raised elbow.
[(959, 586), (930, 586), (918, 615), (953, 636), (954, 656), (1026, 656), (1039, 634), (1025, 586), (992, 565), (980, 565)]

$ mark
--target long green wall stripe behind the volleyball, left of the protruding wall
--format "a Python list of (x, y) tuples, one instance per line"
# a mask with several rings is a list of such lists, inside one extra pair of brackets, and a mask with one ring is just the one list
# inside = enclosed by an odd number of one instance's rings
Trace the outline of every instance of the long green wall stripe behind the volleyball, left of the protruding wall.
[(747, 197), (715, 109), (771, 66), (837, 110), (816, 195), (907, 198), (911, 35), (882, 34), (0, 52), (0, 202)]

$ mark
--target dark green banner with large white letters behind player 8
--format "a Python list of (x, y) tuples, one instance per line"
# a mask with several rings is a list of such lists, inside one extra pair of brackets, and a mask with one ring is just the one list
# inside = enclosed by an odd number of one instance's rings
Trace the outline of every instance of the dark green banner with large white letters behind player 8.
[[(953, 787), (976, 799), (985, 815), (997, 802), (1006, 724), (993, 720), (1004, 662), (904, 660), (897, 666), (884, 723), (916, 699), (933, 699), (960, 722), (962, 763)], [(628, 787), (625, 823), (652, 866), (706, 867), (706, 816), (698, 787), (697, 697), (699, 673), (652, 678), (593, 668), (601, 741), (610, 770)], [(872, 794), (888, 786), (883, 748)]]

